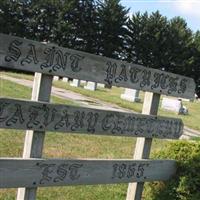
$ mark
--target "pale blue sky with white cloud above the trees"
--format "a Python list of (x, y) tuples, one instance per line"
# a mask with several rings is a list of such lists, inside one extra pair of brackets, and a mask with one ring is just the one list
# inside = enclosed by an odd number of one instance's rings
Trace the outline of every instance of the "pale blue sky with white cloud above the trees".
[(130, 13), (159, 10), (168, 19), (181, 16), (192, 31), (200, 30), (200, 0), (121, 0), (121, 4)]

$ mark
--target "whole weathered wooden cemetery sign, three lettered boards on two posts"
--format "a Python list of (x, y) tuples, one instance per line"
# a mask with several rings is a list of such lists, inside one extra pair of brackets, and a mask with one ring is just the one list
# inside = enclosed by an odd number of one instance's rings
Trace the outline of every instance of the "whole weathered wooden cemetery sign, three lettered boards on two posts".
[[(175, 173), (175, 161), (148, 160), (152, 138), (183, 132), (180, 119), (156, 116), (160, 94), (193, 99), (193, 79), (4, 34), (0, 67), (36, 72), (32, 101), (0, 98), (0, 128), (27, 130), (23, 158), (0, 158), (0, 187), (25, 187), (18, 200), (36, 199), (37, 187), (108, 183), (130, 183), (127, 200), (140, 200), (144, 182)], [(53, 76), (148, 91), (142, 114), (48, 103)], [(139, 138), (133, 160), (41, 159), (45, 131)]]

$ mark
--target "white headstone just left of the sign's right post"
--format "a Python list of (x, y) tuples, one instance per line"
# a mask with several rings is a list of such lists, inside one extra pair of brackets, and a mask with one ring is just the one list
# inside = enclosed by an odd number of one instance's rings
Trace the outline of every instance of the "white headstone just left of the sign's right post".
[(131, 102), (140, 102), (141, 99), (139, 98), (139, 93), (139, 90), (126, 88), (124, 94), (121, 94), (121, 99)]

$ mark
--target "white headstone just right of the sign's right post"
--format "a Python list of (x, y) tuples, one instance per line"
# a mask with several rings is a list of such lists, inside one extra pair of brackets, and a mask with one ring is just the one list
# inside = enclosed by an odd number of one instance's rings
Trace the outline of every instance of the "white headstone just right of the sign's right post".
[(182, 107), (183, 105), (181, 99), (169, 99), (164, 97), (161, 104), (161, 108), (165, 110), (175, 111), (177, 113), (180, 112)]

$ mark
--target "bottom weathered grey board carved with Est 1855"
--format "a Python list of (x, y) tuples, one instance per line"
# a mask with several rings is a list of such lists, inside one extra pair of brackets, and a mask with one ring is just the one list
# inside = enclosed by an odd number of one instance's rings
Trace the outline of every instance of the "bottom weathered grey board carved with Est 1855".
[(168, 180), (173, 160), (0, 159), (0, 188)]

